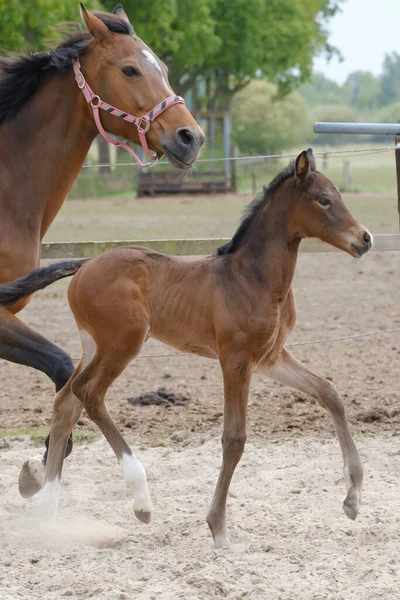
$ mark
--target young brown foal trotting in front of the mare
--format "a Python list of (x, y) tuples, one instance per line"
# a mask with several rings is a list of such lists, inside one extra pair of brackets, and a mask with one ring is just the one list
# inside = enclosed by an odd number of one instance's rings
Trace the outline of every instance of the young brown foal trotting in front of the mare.
[[(49, 455), (39, 506), (55, 515), (65, 447), (85, 408), (118, 460), (136, 516), (150, 520), (145, 471), (112, 421), (105, 395), (111, 383), (153, 337), (219, 360), (224, 378), (223, 463), (207, 522), (217, 547), (229, 545), (225, 512), (230, 481), (246, 441), (252, 374), (268, 375), (310, 394), (333, 419), (344, 460), (344, 512), (355, 519), (362, 465), (333, 383), (304, 367), (285, 348), (296, 314), (292, 280), (299, 244), (317, 237), (359, 258), (371, 234), (343, 203), (333, 183), (315, 170), (311, 150), (280, 173), (250, 204), (232, 240), (216, 256), (187, 262), (131, 247), (92, 260), (38, 269), (0, 287), (0, 305), (75, 272), (69, 303), (82, 341), (82, 359), (54, 403)], [(37, 479), (43, 481), (43, 473)]]

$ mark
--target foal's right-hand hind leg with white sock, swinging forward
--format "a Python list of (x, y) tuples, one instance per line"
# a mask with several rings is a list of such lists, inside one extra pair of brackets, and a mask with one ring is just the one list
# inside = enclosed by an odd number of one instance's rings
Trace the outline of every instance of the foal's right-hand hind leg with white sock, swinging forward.
[(97, 347), (91, 363), (74, 378), (72, 389), (81, 400), (89, 417), (98, 425), (119, 460), (128, 490), (134, 498), (134, 512), (143, 523), (149, 523), (152, 504), (147, 488), (146, 472), (118, 431), (105, 405), (105, 395), (129, 362), (137, 356), (146, 337), (148, 323), (143, 327), (129, 329), (118, 335), (114, 330), (117, 346), (107, 340)]

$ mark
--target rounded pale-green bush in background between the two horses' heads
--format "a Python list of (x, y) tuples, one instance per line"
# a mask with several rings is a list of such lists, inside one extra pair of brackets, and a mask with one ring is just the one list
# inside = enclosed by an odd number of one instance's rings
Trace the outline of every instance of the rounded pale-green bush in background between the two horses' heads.
[(245, 154), (276, 154), (300, 143), (311, 131), (304, 99), (292, 92), (279, 99), (277, 87), (252, 81), (235, 95), (232, 135)]

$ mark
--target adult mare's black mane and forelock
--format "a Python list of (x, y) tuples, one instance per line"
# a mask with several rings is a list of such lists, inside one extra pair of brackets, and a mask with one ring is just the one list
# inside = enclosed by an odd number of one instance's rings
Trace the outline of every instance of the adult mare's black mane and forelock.
[[(103, 12), (94, 14), (113, 33), (133, 34), (132, 26), (117, 15)], [(87, 31), (81, 31), (78, 23), (72, 25), (74, 33), (49, 52), (0, 56), (0, 125), (17, 114), (50, 73), (65, 73), (72, 61), (86, 50), (92, 36)]]

